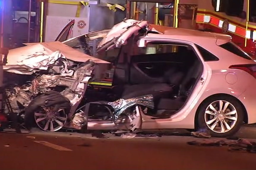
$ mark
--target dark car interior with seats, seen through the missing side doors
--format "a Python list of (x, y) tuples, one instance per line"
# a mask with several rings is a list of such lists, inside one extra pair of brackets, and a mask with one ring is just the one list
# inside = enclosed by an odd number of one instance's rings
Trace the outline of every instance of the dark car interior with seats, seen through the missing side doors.
[(116, 65), (113, 84), (119, 85), (123, 99), (152, 94), (155, 108), (150, 114), (169, 117), (184, 105), (202, 68), (190, 46), (152, 44), (127, 64)]

